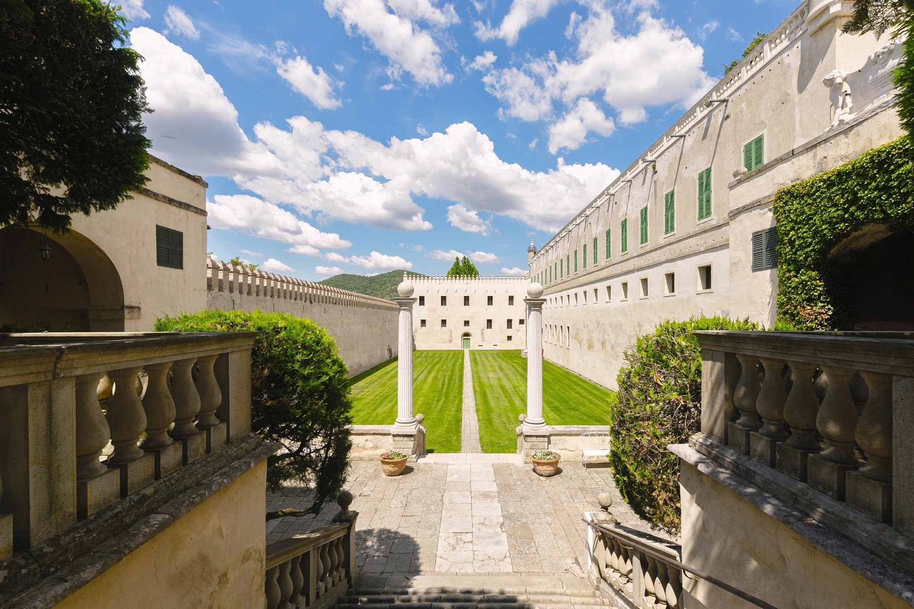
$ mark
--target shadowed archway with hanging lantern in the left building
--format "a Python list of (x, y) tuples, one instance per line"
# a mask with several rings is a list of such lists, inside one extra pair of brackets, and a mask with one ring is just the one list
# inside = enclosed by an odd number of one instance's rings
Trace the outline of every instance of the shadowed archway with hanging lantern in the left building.
[[(39, 250), (45, 244), (47, 261)], [(122, 332), (124, 311), (120, 273), (85, 235), (0, 229), (0, 321)]]

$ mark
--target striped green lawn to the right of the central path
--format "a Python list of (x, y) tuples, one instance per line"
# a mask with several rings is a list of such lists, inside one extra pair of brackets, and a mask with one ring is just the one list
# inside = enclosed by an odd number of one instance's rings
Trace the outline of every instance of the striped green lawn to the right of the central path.
[[(520, 351), (470, 351), (473, 394), (484, 453), (517, 450), (517, 416), (526, 412), (526, 358)], [(611, 391), (543, 362), (543, 417), (548, 425), (609, 422)]]

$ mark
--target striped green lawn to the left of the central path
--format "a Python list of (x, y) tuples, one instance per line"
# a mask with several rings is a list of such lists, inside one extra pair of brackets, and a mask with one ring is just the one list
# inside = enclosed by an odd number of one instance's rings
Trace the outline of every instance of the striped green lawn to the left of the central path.
[[(460, 453), (463, 352), (414, 351), (413, 411), (425, 415), (430, 453)], [(387, 425), (397, 419), (397, 359), (357, 374), (352, 387), (356, 425)]]

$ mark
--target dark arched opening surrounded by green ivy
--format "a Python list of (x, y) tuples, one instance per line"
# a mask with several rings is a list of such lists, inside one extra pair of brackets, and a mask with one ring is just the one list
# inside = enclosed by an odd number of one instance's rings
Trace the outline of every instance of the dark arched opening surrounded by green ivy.
[(827, 260), (854, 330), (914, 330), (914, 234), (871, 224), (838, 243)]

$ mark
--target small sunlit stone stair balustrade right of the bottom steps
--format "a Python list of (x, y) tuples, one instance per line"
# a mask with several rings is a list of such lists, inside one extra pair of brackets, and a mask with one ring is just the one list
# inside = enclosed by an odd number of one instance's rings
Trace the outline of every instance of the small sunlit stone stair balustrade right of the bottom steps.
[(585, 514), (588, 577), (613, 606), (683, 607), (679, 546), (613, 521), (605, 513)]

